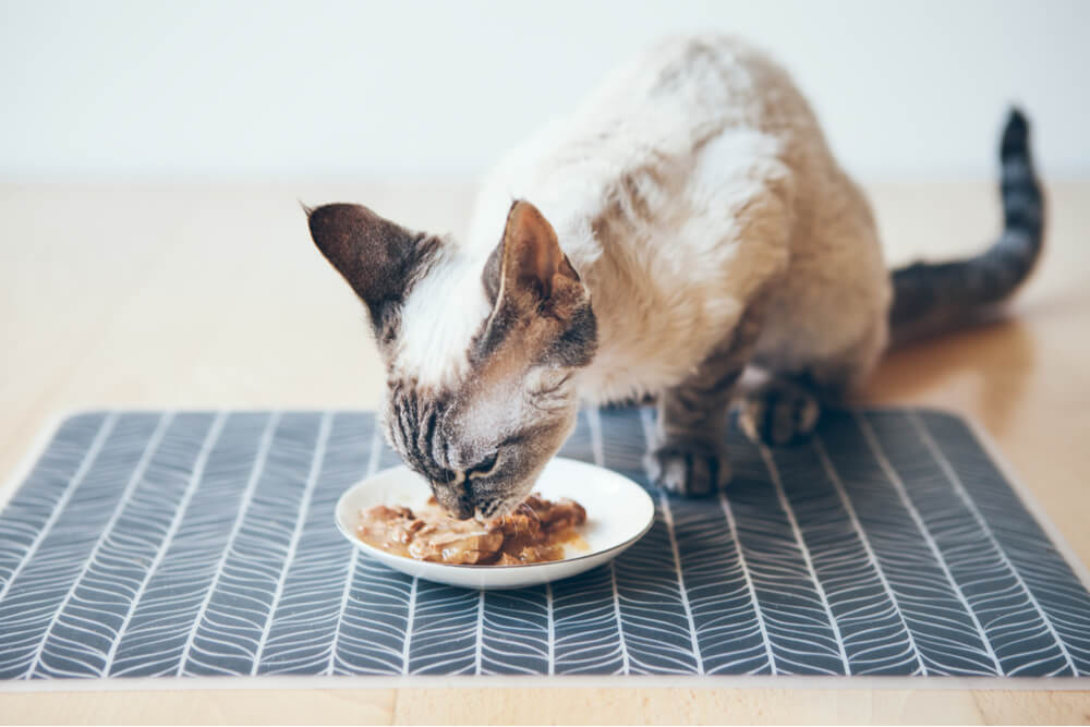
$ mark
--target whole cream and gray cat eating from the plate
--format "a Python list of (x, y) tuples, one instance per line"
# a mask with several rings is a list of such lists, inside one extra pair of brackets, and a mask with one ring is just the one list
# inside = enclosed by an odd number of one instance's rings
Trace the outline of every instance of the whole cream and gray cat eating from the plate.
[(1003, 135), (1004, 230), (965, 260), (889, 271), (870, 206), (787, 73), (716, 35), (659, 43), (486, 179), (468, 239), (361, 205), (307, 209), (370, 312), (387, 439), (459, 518), (510, 511), (581, 401), (654, 397), (661, 486), (730, 478), (728, 408), (780, 445), (864, 380), (891, 341), (1009, 298), (1042, 247), (1028, 123)]

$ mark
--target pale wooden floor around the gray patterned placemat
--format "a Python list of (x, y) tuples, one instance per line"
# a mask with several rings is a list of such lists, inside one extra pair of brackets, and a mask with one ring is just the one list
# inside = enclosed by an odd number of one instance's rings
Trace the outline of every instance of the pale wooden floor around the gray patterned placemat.
[[(990, 184), (870, 189), (892, 262), (998, 229)], [(892, 354), (867, 399), (977, 417), (1090, 561), (1090, 183), (1050, 186), (1049, 250), (1003, 322)], [(375, 403), (362, 307), (298, 199), (460, 233), (468, 184), (0, 186), (0, 473), (85, 407)], [(0, 489), (0, 501), (13, 483)], [(361, 680), (364, 683), (364, 680)], [(783, 689), (0, 693), (4, 723), (1082, 723), (1090, 694)]]

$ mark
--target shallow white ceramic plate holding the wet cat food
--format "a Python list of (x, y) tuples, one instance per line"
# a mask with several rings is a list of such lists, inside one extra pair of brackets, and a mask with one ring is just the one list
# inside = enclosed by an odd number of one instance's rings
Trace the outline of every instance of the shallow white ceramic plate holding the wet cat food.
[(534, 492), (548, 499), (570, 497), (586, 508), (586, 523), (579, 534), (588, 549), (569, 552), (564, 560), (529, 566), (452, 566), (396, 556), (364, 543), (355, 535), (361, 510), (375, 505), (415, 509), (431, 496), (427, 482), (407, 467), (384, 470), (341, 495), (337, 528), (370, 557), (403, 573), (468, 589), (518, 589), (569, 578), (608, 562), (640, 540), (655, 518), (655, 506), (642, 487), (586, 462), (554, 459)]

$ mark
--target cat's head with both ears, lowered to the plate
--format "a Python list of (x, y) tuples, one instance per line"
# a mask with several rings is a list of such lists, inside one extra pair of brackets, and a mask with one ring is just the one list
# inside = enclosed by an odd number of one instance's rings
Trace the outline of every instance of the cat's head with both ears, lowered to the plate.
[(597, 343), (590, 292), (553, 227), (516, 202), (496, 247), (474, 255), (361, 205), (307, 215), (367, 307), (390, 446), (456, 517), (513, 509), (574, 425), (574, 378)]

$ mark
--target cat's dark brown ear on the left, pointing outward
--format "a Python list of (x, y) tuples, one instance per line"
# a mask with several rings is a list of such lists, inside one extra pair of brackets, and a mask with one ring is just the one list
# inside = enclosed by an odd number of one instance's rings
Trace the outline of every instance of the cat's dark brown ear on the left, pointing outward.
[(439, 245), (436, 238), (407, 230), (363, 205), (310, 209), (311, 238), (367, 305), (376, 332), (402, 300), (415, 272)]

